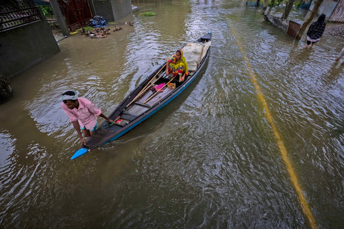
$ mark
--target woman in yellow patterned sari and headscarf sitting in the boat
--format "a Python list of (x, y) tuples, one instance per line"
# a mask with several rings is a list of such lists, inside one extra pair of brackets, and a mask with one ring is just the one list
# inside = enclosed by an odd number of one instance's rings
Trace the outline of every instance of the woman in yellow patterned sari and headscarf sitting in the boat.
[(184, 81), (185, 77), (189, 75), (187, 63), (181, 49), (178, 49), (175, 55), (166, 63), (166, 75), (169, 75), (170, 72), (173, 73), (173, 76), (179, 75), (179, 82)]

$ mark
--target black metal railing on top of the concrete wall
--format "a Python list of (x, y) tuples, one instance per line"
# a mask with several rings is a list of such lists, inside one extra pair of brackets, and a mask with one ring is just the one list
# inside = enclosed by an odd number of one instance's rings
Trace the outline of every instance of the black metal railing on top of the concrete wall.
[(0, 0), (0, 32), (41, 19), (32, 0)]

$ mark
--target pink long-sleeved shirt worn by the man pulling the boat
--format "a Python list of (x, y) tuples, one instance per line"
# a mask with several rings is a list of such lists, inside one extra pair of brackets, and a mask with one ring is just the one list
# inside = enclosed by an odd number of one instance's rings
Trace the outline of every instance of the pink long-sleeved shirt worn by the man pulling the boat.
[(97, 124), (97, 116), (101, 114), (99, 110), (91, 101), (85, 98), (78, 98), (79, 107), (73, 110), (68, 109), (66, 104), (61, 103), (62, 110), (69, 117), (69, 121), (78, 121), (81, 127), (92, 129)]

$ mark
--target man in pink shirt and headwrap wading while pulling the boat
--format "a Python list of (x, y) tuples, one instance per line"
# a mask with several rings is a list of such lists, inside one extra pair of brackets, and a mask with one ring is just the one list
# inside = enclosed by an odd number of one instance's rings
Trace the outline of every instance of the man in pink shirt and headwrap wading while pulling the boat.
[(66, 91), (62, 94), (62, 101), (61, 108), (73, 124), (82, 146), (86, 145), (86, 142), (81, 135), (81, 130), (85, 137), (92, 136), (98, 126), (97, 116), (105, 118), (109, 123), (114, 122), (101, 113), (101, 110), (93, 105), (91, 101), (78, 98), (78, 91)]

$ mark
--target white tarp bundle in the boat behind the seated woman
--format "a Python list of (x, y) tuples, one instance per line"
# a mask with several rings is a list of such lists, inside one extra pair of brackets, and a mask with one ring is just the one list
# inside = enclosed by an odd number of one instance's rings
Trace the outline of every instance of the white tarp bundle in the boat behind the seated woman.
[[(209, 49), (210, 45), (211, 45), (211, 41), (205, 44), (201, 42), (199, 43), (191, 42), (187, 44), (184, 48), (182, 48), (183, 57), (185, 57), (189, 71), (195, 71), (197, 69), (197, 65), (200, 64), (202, 58), (207, 53), (207, 50)], [(166, 61), (170, 60), (172, 56), (167, 58)]]

